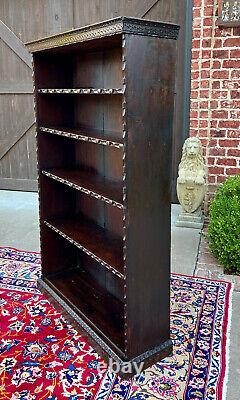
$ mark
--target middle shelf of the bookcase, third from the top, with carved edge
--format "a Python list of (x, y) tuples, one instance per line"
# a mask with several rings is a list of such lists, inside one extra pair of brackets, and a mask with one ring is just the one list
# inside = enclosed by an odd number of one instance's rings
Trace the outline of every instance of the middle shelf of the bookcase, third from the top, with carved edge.
[(99, 175), (78, 169), (58, 168), (42, 171), (42, 173), (55, 181), (80, 190), (96, 199), (120, 209), (123, 208), (122, 183), (108, 181)]

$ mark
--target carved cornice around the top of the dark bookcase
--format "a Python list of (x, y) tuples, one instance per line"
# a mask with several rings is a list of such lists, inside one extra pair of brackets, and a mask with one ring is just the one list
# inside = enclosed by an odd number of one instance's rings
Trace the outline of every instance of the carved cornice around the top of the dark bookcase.
[(117, 17), (28, 42), (26, 46), (30, 52), (38, 52), (124, 33), (176, 40), (178, 31), (179, 26), (175, 24), (130, 17)]

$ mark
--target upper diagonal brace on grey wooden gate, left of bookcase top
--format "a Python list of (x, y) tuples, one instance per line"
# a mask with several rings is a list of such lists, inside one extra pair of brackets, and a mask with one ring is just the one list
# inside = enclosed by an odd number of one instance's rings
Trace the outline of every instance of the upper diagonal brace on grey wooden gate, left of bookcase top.
[(0, 38), (32, 69), (32, 57), (21, 40), (0, 20)]

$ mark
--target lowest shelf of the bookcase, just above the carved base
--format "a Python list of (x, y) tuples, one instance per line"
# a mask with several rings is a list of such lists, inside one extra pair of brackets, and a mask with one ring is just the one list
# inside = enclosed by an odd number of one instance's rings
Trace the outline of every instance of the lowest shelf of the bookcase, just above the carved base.
[(78, 315), (123, 348), (123, 303), (101, 288), (92, 276), (75, 268), (47, 276), (44, 281), (56, 288)]

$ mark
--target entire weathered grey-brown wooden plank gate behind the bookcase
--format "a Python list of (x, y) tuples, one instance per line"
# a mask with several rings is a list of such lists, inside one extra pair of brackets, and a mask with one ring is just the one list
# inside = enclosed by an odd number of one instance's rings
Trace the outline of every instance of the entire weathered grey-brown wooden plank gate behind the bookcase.
[(23, 43), (126, 15), (181, 25), (173, 132), (172, 201), (176, 202), (177, 168), (189, 131), (192, 0), (19, 0), (17, 3), (18, 6), (15, 0), (0, 2), (0, 57), (3, 60), (0, 63), (0, 189), (36, 189), (31, 64)]

